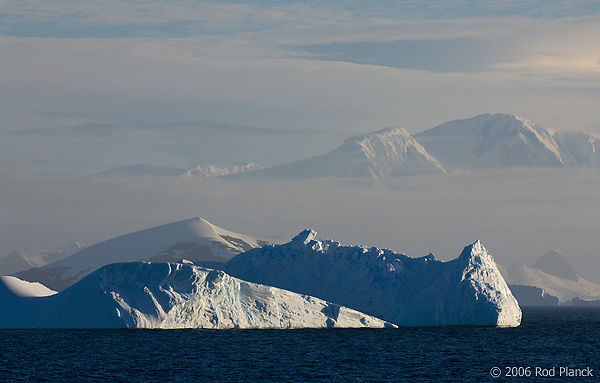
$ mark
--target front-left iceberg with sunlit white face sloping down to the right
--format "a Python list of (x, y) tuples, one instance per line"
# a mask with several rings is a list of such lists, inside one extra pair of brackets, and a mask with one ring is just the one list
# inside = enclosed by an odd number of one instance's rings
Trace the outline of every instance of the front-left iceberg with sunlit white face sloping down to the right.
[(0, 328), (391, 327), (323, 300), (189, 263), (120, 263), (67, 290), (22, 298), (0, 285)]

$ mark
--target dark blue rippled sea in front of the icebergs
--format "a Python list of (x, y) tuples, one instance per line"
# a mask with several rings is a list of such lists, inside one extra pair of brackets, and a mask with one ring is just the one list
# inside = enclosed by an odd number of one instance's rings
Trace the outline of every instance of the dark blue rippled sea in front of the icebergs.
[(3, 330), (0, 356), (1, 382), (596, 382), (600, 308), (524, 309), (518, 328)]

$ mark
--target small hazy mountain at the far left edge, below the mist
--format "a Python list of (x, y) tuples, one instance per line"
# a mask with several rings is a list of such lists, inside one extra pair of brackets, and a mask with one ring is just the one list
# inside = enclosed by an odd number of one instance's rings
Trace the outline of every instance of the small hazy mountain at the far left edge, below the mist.
[(42, 267), (75, 254), (86, 247), (81, 242), (73, 242), (60, 250), (23, 250), (17, 249), (6, 257), (0, 258), (0, 275), (9, 275), (32, 267)]

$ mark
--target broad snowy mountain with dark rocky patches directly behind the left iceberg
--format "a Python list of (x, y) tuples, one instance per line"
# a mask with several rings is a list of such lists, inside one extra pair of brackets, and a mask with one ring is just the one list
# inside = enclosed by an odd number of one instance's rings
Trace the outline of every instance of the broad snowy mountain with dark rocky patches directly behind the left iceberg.
[(202, 218), (193, 218), (113, 238), (16, 276), (62, 291), (110, 263), (175, 262), (182, 259), (225, 262), (243, 251), (279, 241), (234, 233)]

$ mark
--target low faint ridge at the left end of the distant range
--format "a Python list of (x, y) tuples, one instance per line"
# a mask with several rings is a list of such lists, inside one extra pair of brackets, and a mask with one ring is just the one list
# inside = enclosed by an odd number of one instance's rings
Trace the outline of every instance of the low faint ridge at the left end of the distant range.
[(127, 165), (105, 170), (92, 177), (219, 177), (263, 169), (253, 162), (231, 165), (199, 165), (193, 168), (169, 168), (147, 164)]

